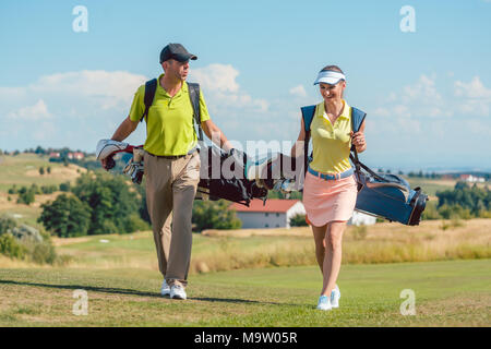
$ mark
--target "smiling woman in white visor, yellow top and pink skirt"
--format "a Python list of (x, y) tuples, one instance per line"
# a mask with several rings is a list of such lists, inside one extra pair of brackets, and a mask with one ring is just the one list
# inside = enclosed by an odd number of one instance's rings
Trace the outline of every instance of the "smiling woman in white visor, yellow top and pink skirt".
[[(351, 108), (343, 94), (346, 77), (337, 65), (327, 65), (319, 73), (314, 85), (320, 86), (323, 101), (318, 104), (311, 123), (313, 158), (303, 184), (307, 221), (312, 226), (315, 256), (323, 274), (318, 309), (339, 305), (340, 291), (336, 285), (342, 262), (342, 240), (346, 224), (357, 200), (357, 183), (349, 163), (351, 144), (358, 153), (367, 149), (364, 120), (356, 133), (351, 130)], [(296, 148), (303, 144), (303, 119)], [(303, 146), (300, 146), (303, 148)]]

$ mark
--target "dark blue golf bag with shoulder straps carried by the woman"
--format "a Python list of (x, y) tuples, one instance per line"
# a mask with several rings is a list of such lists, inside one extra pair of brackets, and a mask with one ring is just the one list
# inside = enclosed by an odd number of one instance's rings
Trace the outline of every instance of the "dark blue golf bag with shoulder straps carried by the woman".
[[(302, 108), (307, 134), (304, 154), (308, 154), (308, 136), (310, 136), (310, 124), (314, 112), (315, 106)], [(358, 132), (366, 116), (366, 112), (351, 108), (351, 128), (354, 132)], [(355, 166), (355, 176), (358, 182), (356, 210), (408, 226), (419, 225), (428, 201), (428, 195), (420, 188), (412, 190), (405, 179), (395, 174), (375, 173), (361, 164), (355, 146), (351, 146), (349, 157)], [(308, 160), (306, 159), (306, 169), (307, 166)]]

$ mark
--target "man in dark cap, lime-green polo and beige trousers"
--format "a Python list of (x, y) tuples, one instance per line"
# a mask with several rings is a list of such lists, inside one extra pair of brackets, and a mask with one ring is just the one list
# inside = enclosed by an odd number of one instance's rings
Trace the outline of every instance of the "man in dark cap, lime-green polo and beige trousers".
[[(152, 220), (158, 266), (164, 276), (160, 293), (185, 299), (191, 260), (191, 215), (200, 181), (200, 156), (193, 108), (185, 82), (189, 60), (197, 57), (180, 44), (169, 44), (160, 52), (164, 74), (158, 77), (152, 107), (146, 116), (144, 173), (146, 202)], [(123, 141), (137, 127), (144, 111), (145, 85), (136, 91), (130, 116), (112, 135)], [(227, 137), (209, 119), (200, 92), (201, 127), (224, 151), (231, 149)], [(103, 160), (106, 167), (106, 160)]]

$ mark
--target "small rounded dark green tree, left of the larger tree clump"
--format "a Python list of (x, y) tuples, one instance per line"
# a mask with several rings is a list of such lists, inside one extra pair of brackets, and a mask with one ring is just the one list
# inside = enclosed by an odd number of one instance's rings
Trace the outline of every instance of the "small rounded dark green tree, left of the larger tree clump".
[(91, 207), (73, 195), (61, 194), (53, 202), (41, 205), (37, 219), (45, 228), (60, 238), (87, 233), (91, 225)]

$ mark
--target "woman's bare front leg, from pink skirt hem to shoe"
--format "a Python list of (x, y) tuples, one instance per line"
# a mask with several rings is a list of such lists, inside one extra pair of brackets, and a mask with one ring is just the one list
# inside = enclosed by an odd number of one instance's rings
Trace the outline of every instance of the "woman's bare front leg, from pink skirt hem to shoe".
[(324, 282), (321, 296), (331, 297), (331, 292), (336, 286), (342, 262), (343, 232), (346, 229), (346, 221), (331, 221), (327, 224), (325, 234), (325, 256), (322, 267)]

